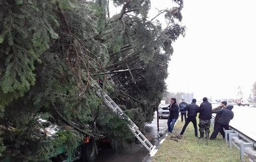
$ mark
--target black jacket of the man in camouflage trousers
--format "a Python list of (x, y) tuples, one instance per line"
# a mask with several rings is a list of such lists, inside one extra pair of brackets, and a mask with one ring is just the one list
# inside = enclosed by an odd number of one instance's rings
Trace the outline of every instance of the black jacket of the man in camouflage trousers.
[(198, 108), (199, 119), (210, 120), (211, 110), (212, 110), (211, 103), (209, 101), (203, 101)]

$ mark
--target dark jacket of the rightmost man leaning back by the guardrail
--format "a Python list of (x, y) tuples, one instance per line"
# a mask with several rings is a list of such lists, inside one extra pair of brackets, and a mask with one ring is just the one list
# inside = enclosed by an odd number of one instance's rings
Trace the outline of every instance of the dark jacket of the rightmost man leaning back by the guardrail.
[(213, 113), (219, 114), (219, 120), (217, 120), (217, 123), (228, 126), (230, 120), (234, 117), (234, 112), (232, 111), (232, 108), (233, 105), (228, 105), (227, 108), (213, 111)]

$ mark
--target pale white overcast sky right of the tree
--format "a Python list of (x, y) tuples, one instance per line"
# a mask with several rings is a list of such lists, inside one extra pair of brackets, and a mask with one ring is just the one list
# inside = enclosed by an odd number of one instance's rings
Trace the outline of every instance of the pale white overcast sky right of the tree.
[[(152, 10), (170, 4), (152, 0)], [(186, 36), (174, 43), (168, 91), (221, 99), (235, 97), (241, 86), (248, 98), (256, 81), (255, 9), (255, 0), (185, 0)]]

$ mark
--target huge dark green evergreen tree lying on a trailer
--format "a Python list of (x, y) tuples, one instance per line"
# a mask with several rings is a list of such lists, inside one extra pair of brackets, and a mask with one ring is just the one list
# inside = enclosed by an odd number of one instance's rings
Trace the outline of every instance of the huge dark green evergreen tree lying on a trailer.
[[(183, 2), (174, 2), (160, 11), (168, 22), (162, 28), (147, 17), (149, 0), (114, 0), (122, 10), (112, 17), (106, 0), (0, 0), (0, 156), (37, 161), (102, 134), (117, 145), (128, 141), (128, 128), (96, 97), (92, 79), (140, 128), (151, 122), (172, 43), (185, 34)], [(58, 124), (58, 136), (43, 136), (39, 119)]]

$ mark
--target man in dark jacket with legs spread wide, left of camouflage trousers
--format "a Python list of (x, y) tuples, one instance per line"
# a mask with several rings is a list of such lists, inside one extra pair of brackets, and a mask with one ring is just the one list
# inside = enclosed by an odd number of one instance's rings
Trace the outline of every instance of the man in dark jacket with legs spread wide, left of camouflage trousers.
[(195, 137), (197, 137), (197, 125), (196, 125), (196, 115), (197, 115), (197, 109), (199, 106), (195, 104), (196, 99), (192, 100), (191, 104), (187, 104), (185, 110), (188, 110), (188, 118), (185, 121), (185, 124), (182, 128), (182, 132), (180, 132), (180, 136), (182, 136), (190, 122), (193, 123), (193, 128), (195, 129)]

